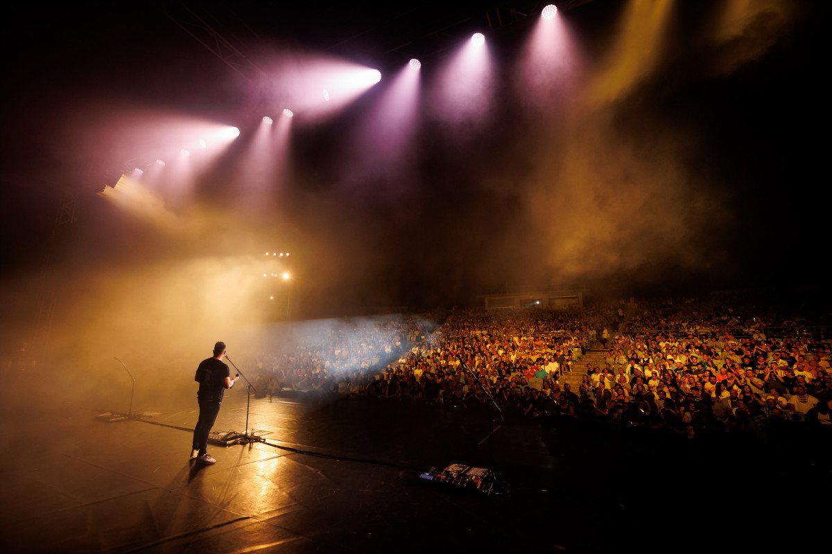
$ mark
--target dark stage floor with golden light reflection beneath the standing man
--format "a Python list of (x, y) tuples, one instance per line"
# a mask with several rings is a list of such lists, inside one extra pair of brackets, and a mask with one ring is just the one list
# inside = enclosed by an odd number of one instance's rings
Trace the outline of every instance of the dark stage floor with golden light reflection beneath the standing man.
[[(240, 392), (215, 430), (245, 429)], [(739, 464), (759, 458), (497, 420), (493, 467), (512, 492), (484, 497), (413, 471), (488, 467), (484, 411), (252, 398), (249, 428), (270, 444), (213, 446), (216, 464), (198, 466), (191, 433), (176, 428), (193, 428), (196, 401), (150, 409), (152, 423), (102, 423), (77, 406), (19, 418), (0, 460), (3, 552), (609, 552), (634, 544), (636, 530), (658, 546), (690, 510), (715, 507), (723, 487), (709, 480), (745, 480)]]

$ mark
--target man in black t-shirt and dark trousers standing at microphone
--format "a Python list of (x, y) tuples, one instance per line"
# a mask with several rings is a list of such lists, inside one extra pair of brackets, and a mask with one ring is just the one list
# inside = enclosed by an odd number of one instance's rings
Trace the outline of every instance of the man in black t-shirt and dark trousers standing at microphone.
[(222, 361), (225, 356), (225, 343), (220, 340), (214, 345), (214, 356), (202, 360), (196, 369), (194, 380), (200, 383), (200, 389), (196, 393), (196, 399), (200, 404), (200, 418), (194, 429), (193, 445), (191, 446), (191, 459), (196, 458), (196, 463), (215, 463), (216, 460), (208, 455), (208, 433), (214, 427), (216, 416), (220, 413), (220, 403), (226, 388), (231, 388), (239, 375), (231, 378), (228, 366)]

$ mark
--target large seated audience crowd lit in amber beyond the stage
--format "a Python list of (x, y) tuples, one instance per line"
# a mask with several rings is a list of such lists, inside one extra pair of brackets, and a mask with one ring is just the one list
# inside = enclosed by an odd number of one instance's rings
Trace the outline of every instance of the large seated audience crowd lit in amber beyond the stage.
[[(789, 305), (717, 297), (347, 322), (260, 356), (255, 386), (447, 408), (491, 397), (518, 418), (765, 440), (775, 426), (830, 425), (827, 316)], [(591, 348), (603, 361), (583, 364)]]

